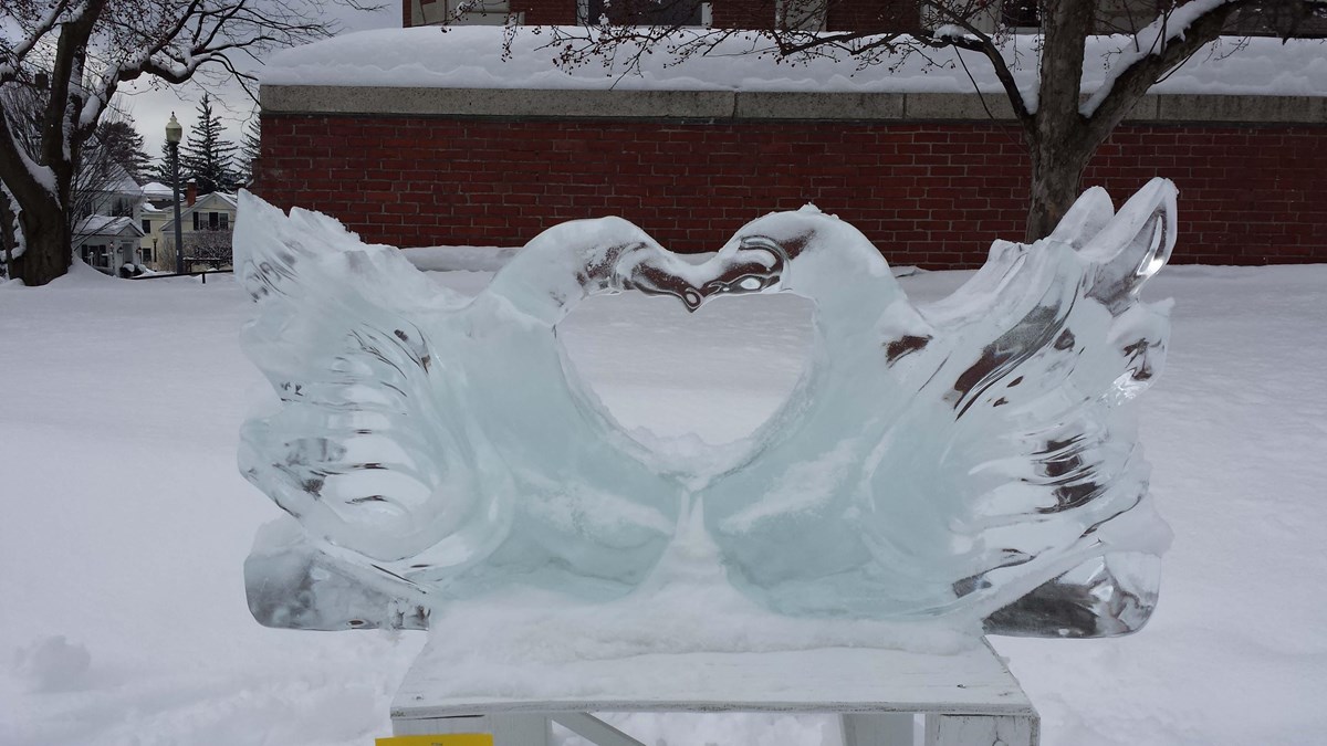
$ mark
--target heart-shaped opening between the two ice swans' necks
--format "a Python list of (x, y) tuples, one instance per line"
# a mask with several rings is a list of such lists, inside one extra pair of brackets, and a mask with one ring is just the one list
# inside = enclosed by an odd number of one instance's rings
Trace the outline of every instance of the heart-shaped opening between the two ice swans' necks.
[(569, 373), (642, 445), (722, 445), (787, 402), (808, 364), (812, 312), (791, 293), (717, 297), (690, 313), (625, 292), (585, 299), (557, 336)]

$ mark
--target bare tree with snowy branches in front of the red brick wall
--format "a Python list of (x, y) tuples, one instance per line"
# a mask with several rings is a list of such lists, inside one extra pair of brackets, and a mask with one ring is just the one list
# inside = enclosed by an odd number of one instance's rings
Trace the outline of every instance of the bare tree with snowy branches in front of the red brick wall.
[[(547, 48), (563, 65), (613, 58), (629, 69), (648, 54), (686, 58), (719, 45), (731, 53), (733, 44), (726, 42), (742, 38), (754, 54), (829, 56), (861, 69), (878, 66), (882, 73), (910, 57), (933, 60), (945, 48), (975, 52), (999, 80), (1031, 159), (1028, 240), (1048, 235), (1059, 223), (1079, 194), (1092, 154), (1148, 89), (1234, 29), (1235, 21), (1238, 33), (1287, 37), (1306, 23), (1327, 19), (1327, 0), (734, 0), (730, 12), (734, 5), (740, 12), (723, 25), (736, 28), (683, 28), (694, 23), (687, 11), (697, 5), (697, 0), (592, 0), (592, 16), (602, 8), (589, 19), (592, 25), (555, 28)], [(642, 13), (689, 21), (640, 23)], [(837, 27), (843, 31), (823, 31), (835, 16), (848, 19)], [(1011, 33), (1026, 23), (1038, 27), (1031, 49), (1026, 36)], [(516, 33), (514, 27), (511, 33)], [(1084, 56), (1093, 33), (1132, 38), (1103, 61), (1109, 65), (1107, 80), (1084, 96)], [(1039, 53), (1034, 89), (1015, 80), (1015, 52)], [(958, 64), (965, 64), (961, 56)]]

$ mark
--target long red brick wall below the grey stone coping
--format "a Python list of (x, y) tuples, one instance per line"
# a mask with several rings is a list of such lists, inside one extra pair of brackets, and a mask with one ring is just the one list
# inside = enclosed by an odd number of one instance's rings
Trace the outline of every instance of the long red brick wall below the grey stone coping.
[[(263, 117), (259, 192), (395, 246), (520, 246), (621, 215), (682, 252), (815, 202), (893, 264), (973, 267), (1023, 234), (1028, 162), (995, 123)], [(1327, 126), (1121, 126), (1085, 185), (1180, 186), (1176, 261), (1327, 261)]]

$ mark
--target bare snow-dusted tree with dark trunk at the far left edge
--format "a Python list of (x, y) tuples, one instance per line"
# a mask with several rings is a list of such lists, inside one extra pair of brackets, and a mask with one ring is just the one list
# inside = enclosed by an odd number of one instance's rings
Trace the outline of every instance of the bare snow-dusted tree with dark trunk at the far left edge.
[(80, 155), (119, 88), (139, 78), (180, 84), (200, 70), (253, 76), (257, 57), (328, 36), (325, 7), (360, 0), (5, 0), (0, 89), (42, 89), (40, 137), (24, 143), (0, 117), (0, 181), (17, 204), (11, 273), (41, 285), (70, 261), (70, 195)]

